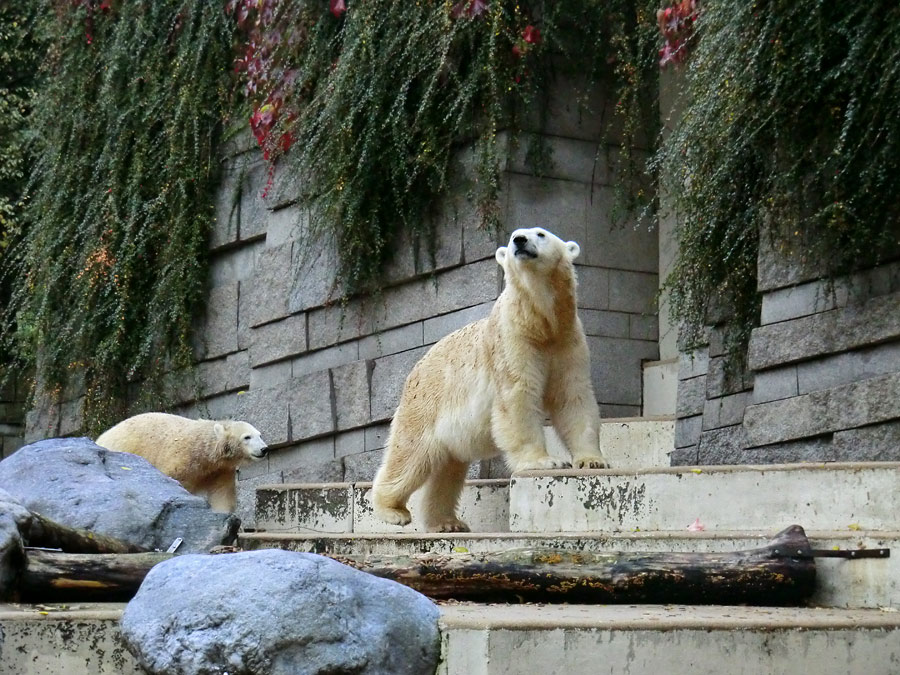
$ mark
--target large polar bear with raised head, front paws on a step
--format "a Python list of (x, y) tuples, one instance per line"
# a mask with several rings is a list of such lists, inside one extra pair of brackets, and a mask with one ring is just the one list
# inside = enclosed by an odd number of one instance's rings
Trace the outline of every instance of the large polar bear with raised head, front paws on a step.
[(456, 506), (471, 462), (502, 453), (512, 471), (570, 466), (547, 454), (548, 415), (576, 467), (606, 465), (577, 312), (579, 252), (540, 227), (497, 249), (505, 287), (490, 315), (438, 341), (406, 379), (373, 486), (382, 520), (408, 524), (407, 499), (424, 485), (426, 529), (467, 532)]

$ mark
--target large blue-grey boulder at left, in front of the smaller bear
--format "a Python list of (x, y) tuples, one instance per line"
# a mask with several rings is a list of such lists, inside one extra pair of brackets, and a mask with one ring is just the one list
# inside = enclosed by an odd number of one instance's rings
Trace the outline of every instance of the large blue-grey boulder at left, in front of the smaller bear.
[(0, 462), (0, 488), (62, 525), (151, 549), (165, 550), (181, 537), (179, 553), (208, 551), (233, 542), (240, 525), (142, 457), (87, 438), (26, 445)]

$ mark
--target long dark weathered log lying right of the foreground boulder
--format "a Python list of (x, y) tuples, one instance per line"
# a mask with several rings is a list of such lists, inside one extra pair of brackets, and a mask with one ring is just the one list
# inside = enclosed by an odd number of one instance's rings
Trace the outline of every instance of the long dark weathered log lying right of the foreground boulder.
[(334, 556), (434, 599), (481, 602), (793, 605), (808, 598), (815, 561), (799, 525), (763, 548), (732, 553), (590, 553), (553, 549), (420, 556)]

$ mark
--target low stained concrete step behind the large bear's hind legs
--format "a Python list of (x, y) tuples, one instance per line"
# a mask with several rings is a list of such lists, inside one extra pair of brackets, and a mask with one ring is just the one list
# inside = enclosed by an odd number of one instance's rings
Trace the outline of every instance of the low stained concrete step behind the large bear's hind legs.
[[(372, 512), (371, 483), (261, 485), (256, 489), (256, 527), (291, 532), (417, 532), (421, 492), (410, 499), (411, 526), (388, 525)], [(460, 515), (475, 532), (509, 530), (509, 481), (466, 482)]]

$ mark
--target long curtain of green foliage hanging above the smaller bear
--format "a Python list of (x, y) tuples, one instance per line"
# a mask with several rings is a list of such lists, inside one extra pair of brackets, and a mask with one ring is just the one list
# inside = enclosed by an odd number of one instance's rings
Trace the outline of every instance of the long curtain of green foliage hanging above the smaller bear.
[(97, 430), (129, 383), (159, 395), (161, 373), (191, 361), (233, 28), (198, 0), (39, 8), (52, 47), (10, 312), (42, 386), (77, 374)]

